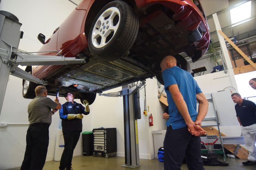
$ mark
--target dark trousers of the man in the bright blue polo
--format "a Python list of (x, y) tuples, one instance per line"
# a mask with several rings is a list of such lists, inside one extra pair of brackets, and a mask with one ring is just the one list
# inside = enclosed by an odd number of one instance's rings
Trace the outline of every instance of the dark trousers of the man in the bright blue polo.
[(204, 170), (201, 158), (201, 139), (191, 135), (188, 127), (167, 127), (164, 137), (164, 170), (180, 170), (186, 155), (189, 170)]

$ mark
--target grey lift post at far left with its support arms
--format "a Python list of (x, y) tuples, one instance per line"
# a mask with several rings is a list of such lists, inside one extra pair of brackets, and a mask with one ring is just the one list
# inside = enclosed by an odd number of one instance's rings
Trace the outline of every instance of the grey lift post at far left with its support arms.
[[(23, 32), (20, 31), (22, 24), (19, 19), (10, 12), (1, 11), (0, 13), (0, 114), (4, 102), (5, 90), (9, 75), (22, 78), (34, 83), (47, 85), (47, 82), (33, 77), (25, 70), (18, 66), (32, 65), (67, 65), (75, 63), (86, 63), (84, 59), (76, 59), (75, 57), (64, 57), (58, 51), (60, 56), (46, 55), (28, 55), (17, 53), (20, 39)], [(33, 52), (32, 52), (33, 53)], [(34, 52), (37, 53), (37, 52)], [(38, 52), (39, 53), (39, 52)]]

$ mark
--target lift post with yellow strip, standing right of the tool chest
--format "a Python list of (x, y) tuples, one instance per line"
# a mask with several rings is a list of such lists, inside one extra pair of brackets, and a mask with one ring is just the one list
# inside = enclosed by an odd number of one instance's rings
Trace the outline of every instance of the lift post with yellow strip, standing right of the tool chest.
[(100, 96), (119, 97), (123, 96), (124, 104), (124, 148), (125, 164), (123, 167), (136, 168), (140, 166), (139, 137), (137, 119), (140, 113), (140, 92), (145, 87), (145, 80), (135, 85), (134, 83), (122, 86), (122, 91), (100, 94)]

